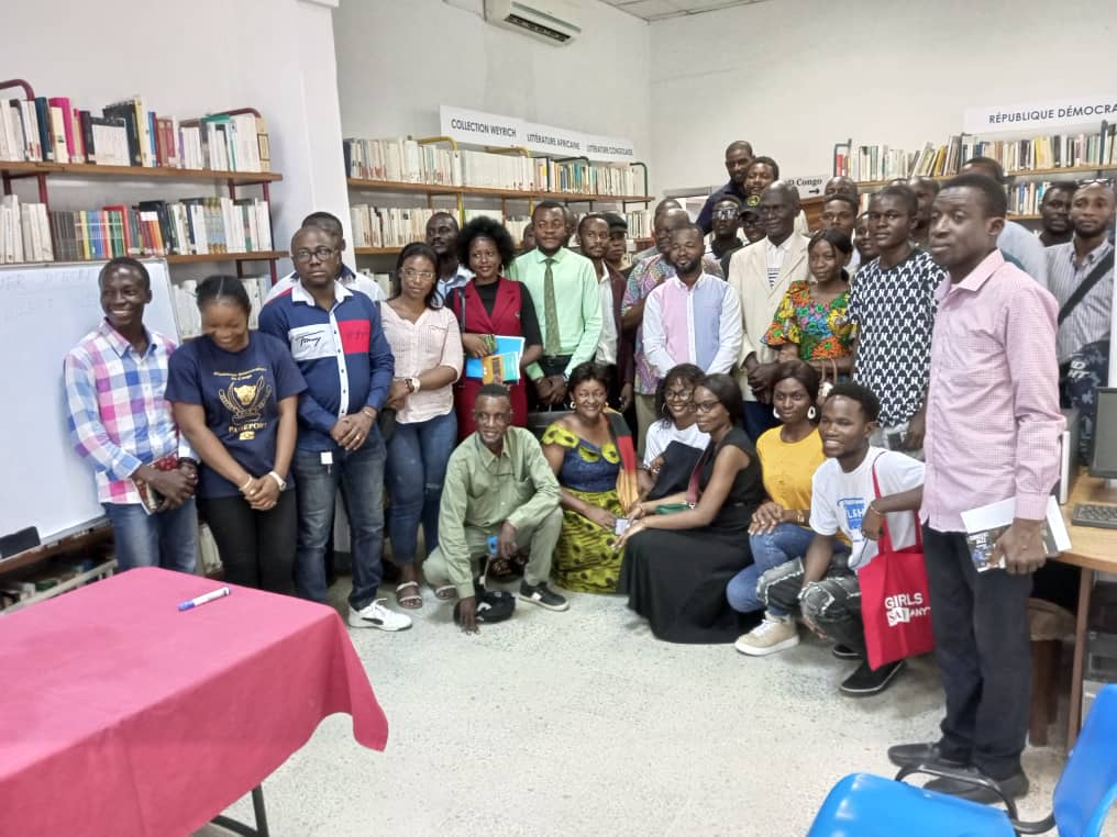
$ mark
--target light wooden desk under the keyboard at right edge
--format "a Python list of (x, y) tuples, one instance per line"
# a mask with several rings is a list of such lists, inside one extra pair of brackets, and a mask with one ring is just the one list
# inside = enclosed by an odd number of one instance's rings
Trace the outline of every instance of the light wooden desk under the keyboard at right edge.
[(1075, 745), (1082, 712), (1082, 664), (1086, 658), (1086, 627), (1090, 613), (1090, 594), (1094, 589), (1094, 574), (1117, 573), (1117, 529), (1098, 529), (1075, 526), (1070, 516), (1076, 503), (1117, 503), (1117, 491), (1106, 488), (1106, 482), (1090, 477), (1085, 470), (1079, 473), (1071, 489), (1062, 517), (1070, 533), (1070, 550), (1059, 556), (1059, 560), (1081, 567), (1082, 578), (1078, 585), (1078, 620), (1075, 625), (1075, 673), (1070, 683), (1070, 721), (1067, 729), (1067, 749)]

